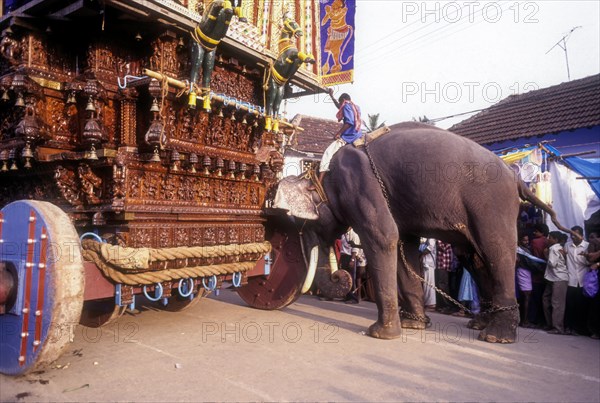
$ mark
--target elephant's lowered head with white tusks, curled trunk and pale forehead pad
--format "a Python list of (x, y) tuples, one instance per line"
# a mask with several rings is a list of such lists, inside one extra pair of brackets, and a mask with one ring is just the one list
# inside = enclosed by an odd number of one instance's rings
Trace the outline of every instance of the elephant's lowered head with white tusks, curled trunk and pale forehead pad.
[(336, 218), (330, 204), (310, 190), (311, 186), (311, 181), (302, 176), (282, 179), (273, 207), (286, 210), (300, 232), (308, 270), (302, 292), (309, 290), (316, 276), (317, 286), (324, 295), (343, 297), (350, 291), (352, 280), (346, 271), (338, 271), (333, 245), (348, 226)]

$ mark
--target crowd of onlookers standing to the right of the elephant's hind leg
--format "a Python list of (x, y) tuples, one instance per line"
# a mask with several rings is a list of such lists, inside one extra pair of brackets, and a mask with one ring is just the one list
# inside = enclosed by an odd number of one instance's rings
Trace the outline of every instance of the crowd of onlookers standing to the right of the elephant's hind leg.
[[(533, 227), (531, 240), (526, 232), (519, 235), (516, 274), (520, 324), (542, 328), (550, 334), (581, 334), (597, 339), (600, 233), (591, 231), (586, 241), (582, 227), (574, 226), (571, 231), (569, 237), (538, 223)], [(592, 280), (587, 279), (588, 275)], [(594, 276), (595, 294), (590, 291), (594, 288)]]

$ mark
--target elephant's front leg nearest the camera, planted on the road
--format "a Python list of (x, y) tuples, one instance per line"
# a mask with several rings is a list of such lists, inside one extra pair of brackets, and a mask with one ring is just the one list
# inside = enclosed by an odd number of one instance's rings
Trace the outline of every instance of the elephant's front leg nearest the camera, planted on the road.
[(373, 276), (377, 322), (369, 327), (369, 336), (378, 339), (400, 337), (400, 316), (398, 314), (398, 282), (396, 263), (398, 257), (398, 229), (393, 220), (386, 224), (377, 223), (360, 231), (369, 234), (361, 238), (369, 270)]

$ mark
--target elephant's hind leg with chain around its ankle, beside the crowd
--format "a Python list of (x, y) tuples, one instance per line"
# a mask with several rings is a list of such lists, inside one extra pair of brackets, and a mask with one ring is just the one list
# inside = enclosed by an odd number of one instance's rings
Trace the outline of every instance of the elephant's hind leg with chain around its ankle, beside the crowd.
[(513, 343), (519, 324), (514, 271), (516, 234), (510, 225), (504, 229), (496, 226), (482, 231), (479, 243), (484, 265), (478, 277), (482, 301), (487, 302), (482, 304), (487, 313), (481, 315), (487, 325), (479, 333), (479, 339), (491, 343)]

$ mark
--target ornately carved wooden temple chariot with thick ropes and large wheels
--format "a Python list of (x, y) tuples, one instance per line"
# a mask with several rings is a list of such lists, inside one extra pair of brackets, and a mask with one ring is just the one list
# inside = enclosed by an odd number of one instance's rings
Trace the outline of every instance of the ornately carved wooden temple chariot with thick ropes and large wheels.
[[(141, 294), (169, 310), (224, 281), (261, 309), (299, 296), (298, 235), (264, 208), (285, 135), (265, 130), (264, 73), (284, 13), (318, 53), (318, 4), (234, 3), (247, 22), (216, 48), (209, 113), (188, 106), (196, 2), (4, 0), (0, 372), (57, 358), (56, 326), (104, 325)], [(322, 91), (316, 69), (289, 84)]]

